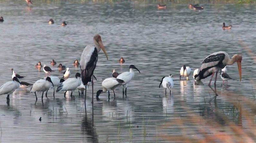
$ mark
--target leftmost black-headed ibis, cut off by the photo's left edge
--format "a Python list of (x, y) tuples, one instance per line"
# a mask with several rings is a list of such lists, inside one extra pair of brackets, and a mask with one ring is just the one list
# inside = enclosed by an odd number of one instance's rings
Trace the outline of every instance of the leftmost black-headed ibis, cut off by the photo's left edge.
[(18, 78), (13, 77), (13, 81), (6, 82), (0, 87), (0, 95), (7, 94), (7, 104), (10, 103), (10, 94), (13, 93), (13, 91), (15, 91), (17, 88), (19, 88), (20, 85), (21, 84)]

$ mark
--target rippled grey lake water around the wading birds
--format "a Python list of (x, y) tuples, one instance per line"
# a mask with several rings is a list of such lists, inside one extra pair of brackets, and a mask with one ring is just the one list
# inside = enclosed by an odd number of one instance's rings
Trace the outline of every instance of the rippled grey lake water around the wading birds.
[[(112, 92), (109, 101), (107, 93), (100, 95), (100, 101), (94, 98), (93, 112), (91, 88), (86, 112), (84, 97), (79, 97), (77, 91), (73, 93), (74, 98), (68, 93), (64, 99), (60, 92), (53, 99), (50, 90), (48, 99), (44, 97), (42, 103), (39, 98), (35, 103), (33, 93), (17, 89), (10, 96), (10, 105), (6, 105), (6, 95), (2, 95), (1, 141), (177, 142), (168, 139), (172, 135), (202, 139), (204, 136), (198, 128), (204, 125), (211, 129), (204, 122), (228, 126), (220, 114), (235, 125), (242, 124), (245, 131), (253, 131), (254, 122), (250, 126), (244, 114), (242, 118), (239, 114), (233, 116), (227, 109), (234, 103), (242, 104), (246, 111), (255, 108), (241, 100), (246, 98), (255, 103), (256, 61), (252, 57), (256, 52), (255, 4), (203, 5), (203, 11), (193, 11), (187, 4), (179, 3), (168, 3), (166, 10), (157, 10), (156, 3), (138, 1), (38, 1), (30, 7), (24, 1), (2, 1), (0, 15), (5, 21), (0, 23), (1, 84), (11, 80), (10, 68), (26, 76), (20, 81), (34, 83), (45, 76), (34, 65), (41, 61), (49, 66), (52, 59), (69, 67), (74, 77), (80, 69), (73, 67), (72, 62), (80, 59), (85, 45), (92, 44), (96, 33), (102, 37), (109, 61), (103, 52), (99, 53), (94, 95), (101, 89), (101, 82), (111, 77), (114, 68), (122, 73), (134, 64), (141, 74), (135, 71), (127, 97), (122, 96), (119, 87), (115, 100)], [(55, 24), (47, 23), (50, 18)], [(60, 26), (63, 20), (68, 24), (66, 27)], [(222, 30), (223, 22), (233, 25), (232, 29)], [(226, 51), (230, 56), (243, 55), (242, 82), (236, 64), (229, 66), (228, 74), (233, 80), (228, 85), (222, 86), (218, 76), (217, 97), (214, 89), (207, 86), (209, 78), (199, 85), (194, 84), (192, 74), (189, 80), (179, 80), (179, 69), (184, 64), (193, 73), (206, 56), (216, 51)], [(120, 57), (126, 60), (124, 64), (118, 63)], [(57, 65), (52, 69), (56, 72), (51, 75), (62, 76)], [(169, 74), (175, 76), (175, 85), (172, 95), (165, 96), (162, 86), (160, 89), (158, 86), (161, 78)], [(193, 115), (204, 119), (203, 123), (188, 120), (187, 124), (171, 125), (179, 119), (192, 119)], [(232, 137), (233, 141), (245, 138)]]

